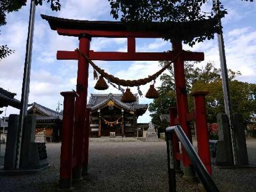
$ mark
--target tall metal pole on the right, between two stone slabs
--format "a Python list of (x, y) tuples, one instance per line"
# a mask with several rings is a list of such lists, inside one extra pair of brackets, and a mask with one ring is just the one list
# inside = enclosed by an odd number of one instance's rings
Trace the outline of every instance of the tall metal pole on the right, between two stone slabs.
[[(217, 6), (219, 0), (214, 0), (215, 6)], [(219, 8), (218, 8), (219, 9)], [(221, 26), (221, 20), (219, 21), (219, 25)], [(219, 54), (220, 54), (220, 69), (221, 69), (221, 79), (222, 79), (222, 89), (224, 95), (224, 105), (225, 105), (225, 113), (228, 116), (229, 123), (230, 123), (230, 136), (231, 136), (231, 146), (232, 146), (232, 155), (233, 155), (233, 162), (236, 166), (237, 162), (237, 150), (236, 150), (236, 140), (234, 136), (234, 123), (232, 117), (232, 106), (230, 100), (230, 92), (229, 92), (229, 85), (228, 85), (228, 68), (226, 64), (226, 54), (225, 54), (225, 46), (224, 46), (224, 38), (223, 33), (217, 34), (218, 36), (218, 47), (219, 47)]]

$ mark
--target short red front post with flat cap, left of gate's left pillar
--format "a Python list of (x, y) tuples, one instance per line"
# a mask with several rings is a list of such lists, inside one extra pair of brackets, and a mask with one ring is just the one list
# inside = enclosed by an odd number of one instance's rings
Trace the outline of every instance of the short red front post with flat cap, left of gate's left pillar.
[(70, 189), (72, 182), (72, 157), (74, 143), (74, 110), (76, 92), (61, 92), (64, 96), (62, 138), (60, 152), (60, 189)]

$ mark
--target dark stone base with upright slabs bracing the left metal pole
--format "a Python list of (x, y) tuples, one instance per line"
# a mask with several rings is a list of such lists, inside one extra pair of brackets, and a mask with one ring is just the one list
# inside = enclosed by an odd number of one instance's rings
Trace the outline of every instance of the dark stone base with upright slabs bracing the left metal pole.
[(9, 116), (9, 126), (2, 174), (35, 173), (49, 166), (44, 142), (35, 142), (36, 116), (27, 115), (22, 135), (20, 167), (16, 169), (16, 146), (18, 140), (19, 115)]

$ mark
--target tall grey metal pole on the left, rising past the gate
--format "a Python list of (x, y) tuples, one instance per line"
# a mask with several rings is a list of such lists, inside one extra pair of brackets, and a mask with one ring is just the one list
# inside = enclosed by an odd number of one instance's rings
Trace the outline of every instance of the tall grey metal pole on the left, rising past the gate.
[(24, 120), (28, 110), (28, 95), (29, 95), (30, 69), (31, 69), (32, 46), (33, 46), (33, 36), (34, 36), (35, 12), (36, 12), (35, 0), (31, 0), (30, 16), (29, 16), (29, 24), (28, 24), (28, 38), (27, 38), (27, 44), (26, 44), (26, 58), (25, 58), (24, 74), (23, 74), (23, 82), (22, 82), (18, 140), (17, 140), (17, 146), (16, 146), (16, 165), (15, 165), (16, 169), (20, 168), (20, 154), (21, 154), (20, 150), (22, 145), (22, 133), (24, 130)]

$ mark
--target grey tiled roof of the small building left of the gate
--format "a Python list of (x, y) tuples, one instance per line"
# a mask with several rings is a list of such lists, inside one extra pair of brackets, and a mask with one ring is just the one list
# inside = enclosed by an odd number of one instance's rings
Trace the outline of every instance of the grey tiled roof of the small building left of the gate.
[(50, 108), (47, 108), (45, 106), (42, 106), (36, 102), (32, 103), (31, 108), (28, 109), (28, 113), (32, 113), (33, 111), (38, 111), (44, 116), (38, 116), (36, 119), (49, 119), (49, 118), (59, 118), (62, 120), (63, 114), (57, 111), (54, 111)]

